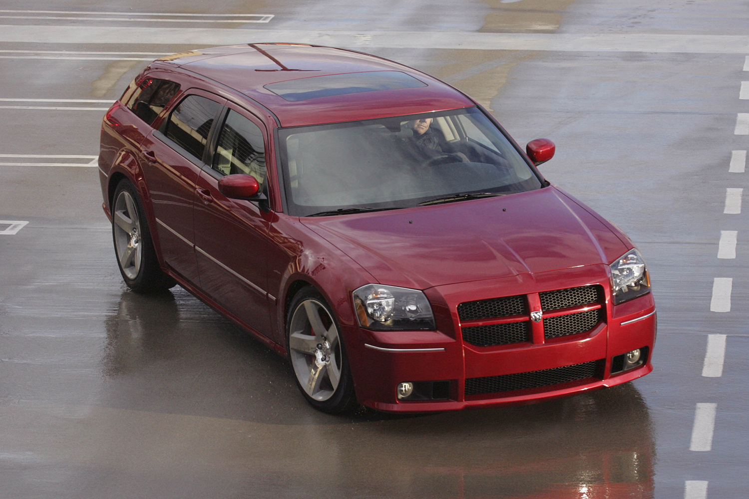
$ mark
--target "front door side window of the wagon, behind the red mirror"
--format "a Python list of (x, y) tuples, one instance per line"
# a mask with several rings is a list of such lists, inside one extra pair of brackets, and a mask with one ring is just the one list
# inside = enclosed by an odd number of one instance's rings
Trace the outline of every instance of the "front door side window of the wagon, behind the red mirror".
[(229, 111), (213, 156), (213, 169), (224, 175), (252, 175), (262, 186), (265, 146), (260, 128), (241, 114)]

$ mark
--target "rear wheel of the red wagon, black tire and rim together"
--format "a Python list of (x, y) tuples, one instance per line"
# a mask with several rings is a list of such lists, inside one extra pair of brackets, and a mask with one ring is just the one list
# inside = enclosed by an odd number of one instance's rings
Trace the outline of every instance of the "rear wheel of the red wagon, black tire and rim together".
[(159, 266), (143, 203), (127, 179), (112, 198), (112, 241), (122, 278), (134, 292), (159, 293), (177, 284)]

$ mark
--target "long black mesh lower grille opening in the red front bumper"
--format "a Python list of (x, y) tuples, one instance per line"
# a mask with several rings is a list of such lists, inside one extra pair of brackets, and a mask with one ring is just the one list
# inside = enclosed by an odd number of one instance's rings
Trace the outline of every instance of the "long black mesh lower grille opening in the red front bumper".
[(504, 374), (485, 378), (466, 379), (466, 395), (494, 394), (502, 391), (542, 388), (600, 377), (601, 367), (605, 361), (592, 361), (573, 366), (554, 367), (529, 373)]

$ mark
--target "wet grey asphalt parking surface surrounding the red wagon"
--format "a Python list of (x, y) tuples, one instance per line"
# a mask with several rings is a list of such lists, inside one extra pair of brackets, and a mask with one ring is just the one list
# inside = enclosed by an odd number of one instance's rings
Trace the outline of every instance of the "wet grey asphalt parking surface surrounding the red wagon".
[[(735, 133), (739, 113), (749, 113), (739, 99), (749, 80), (745, 4), (285, 0), (205, 10), (198, 1), (6, 0), (2, 8), (274, 17), (234, 25), (0, 17), (0, 230), (9, 227), (1, 221), (28, 221), (0, 233), (0, 498), (745, 497), (749, 218), (724, 213), (727, 189), (747, 183), (729, 171), (732, 151), (749, 149)], [(73, 14), (46, 13), (55, 16)], [(26, 28), (11, 36), (10, 25)], [(91, 35), (103, 25), (124, 41)], [(80, 108), (108, 104), (63, 101), (111, 102), (147, 64), (137, 59), (195, 48), (189, 37), (127, 36), (144, 25), (154, 34), (247, 30), (248, 42), (294, 41), (294, 30), (351, 40), (477, 97), (521, 144), (554, 140), (557, 156), (542, 172), (622, 227), (649, 263), (655, 371), (523, 407), (333, 417), (306, 405), (281, 358), (181, 288), (130, 293), (97, 169), (83, 166), (97, 155), (103, 111)], [(61, 26), (76, 32), (55, 39)], [(413, 46), (368, 46), (370, 31), (424, 36)], [(551, 45), (509, 37), (516, 45), (501, 50), (435, 49), (434, 33), (443, 41), (544, 34)], [(645, 41), (591, 51), (555, 37), (600, 34)], [(649, 35), (689, 50), (649, 45)], [(721, 230), (738, 233), (733, 259), (717, 257)], [(730, 312), (710, 310), (715, 278), (733, 279)], [(702, 376), (709, 334), (727, 335), (719, 377)], [(695, 427), (700, 404), (715, 404), (712, 438)], [(693, 429), (709, 450), (690, 450)]]

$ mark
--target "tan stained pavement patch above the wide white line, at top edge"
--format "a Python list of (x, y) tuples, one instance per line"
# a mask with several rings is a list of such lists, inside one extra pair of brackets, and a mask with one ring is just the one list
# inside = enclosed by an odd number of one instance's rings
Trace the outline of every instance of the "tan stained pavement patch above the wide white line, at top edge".
[(566, 8), (574, 0), (523, 0), (503, 4), (484, 0), (491, 12), (479, 31), (488, 33), (554, 33), (560, 28)]

